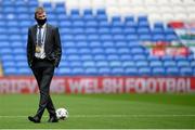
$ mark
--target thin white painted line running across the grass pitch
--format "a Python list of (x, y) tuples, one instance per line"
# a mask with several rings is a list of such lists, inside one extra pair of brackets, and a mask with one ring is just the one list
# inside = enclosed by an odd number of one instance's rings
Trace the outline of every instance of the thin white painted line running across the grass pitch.
[[(0, 116), (0, 118), (27, 118), (28, 116)], [(47, 116), (44, 116), (47, 117)], [(69, 115), (70, 118), (95, 118), (95, 117), (108, 117), (108, 118), (115, 118), (115, 117), (195, 117), (195, 115), (180, 115), (180, 114), (173, 114), (173, 115)]]

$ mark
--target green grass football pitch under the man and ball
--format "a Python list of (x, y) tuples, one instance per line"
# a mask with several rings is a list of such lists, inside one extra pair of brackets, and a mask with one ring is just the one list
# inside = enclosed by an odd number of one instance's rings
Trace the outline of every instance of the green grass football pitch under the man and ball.
[(0, 95), (0, 129), (194, 129), (195, 94), (52, 94), (66, 107), (67, 120), (27, 120), (36, 113), (38, 94)]

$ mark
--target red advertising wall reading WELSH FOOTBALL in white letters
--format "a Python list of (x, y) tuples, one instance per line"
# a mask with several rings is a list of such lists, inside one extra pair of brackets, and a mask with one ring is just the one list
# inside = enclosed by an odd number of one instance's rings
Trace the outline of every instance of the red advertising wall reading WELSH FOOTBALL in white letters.
[[(190, 93), (195, 77), (54, 77), (52, 93)], [(38, 93), (32, 77), (1, 77), (0, 94)]]

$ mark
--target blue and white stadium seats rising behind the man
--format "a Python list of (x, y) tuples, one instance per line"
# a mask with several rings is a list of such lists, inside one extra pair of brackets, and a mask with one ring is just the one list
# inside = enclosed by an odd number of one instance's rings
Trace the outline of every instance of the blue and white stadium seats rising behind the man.
[(49, 23), (60, 27), (63, 57), (55, 70), (58, 76), (195, 75), (193, 53), (158, 57), (142, 44), (179, 40), (168, 22), (194, 21), (194, 0), (1, 0), (4, 76), (31, 75), (26, 39), (37, 5), (43, 5)]

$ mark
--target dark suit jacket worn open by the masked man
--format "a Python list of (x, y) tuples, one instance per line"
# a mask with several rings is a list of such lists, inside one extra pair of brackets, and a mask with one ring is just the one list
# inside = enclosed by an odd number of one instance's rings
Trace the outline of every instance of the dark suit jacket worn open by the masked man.
[[(29, 67), (31, 67), (35, 58), (36, 34), (37, 34), (37, 25), (34, 25), (28, 28), (27, 60)], [(62, 56), (61, 38), (60, 38), (58, 28), (50, 24), (47, 24), (44, 52), (46, 52), (46, 58), (52, 61), (54, 66), (57, 67)]]

